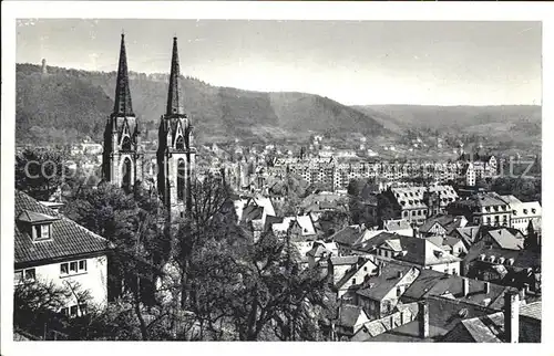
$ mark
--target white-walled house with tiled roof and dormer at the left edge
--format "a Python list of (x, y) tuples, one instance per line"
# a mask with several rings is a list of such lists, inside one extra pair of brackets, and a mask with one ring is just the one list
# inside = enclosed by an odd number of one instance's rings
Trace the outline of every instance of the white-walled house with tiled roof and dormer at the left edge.
[[(79, 284), (91, 302), (107, 302), (110, 242), (86, 230), (27, 193), (16, 191), (14, 284), (42, 281), (69, 287)], [(86, 313), (74, 296), (58, 312), (69, 316)]]

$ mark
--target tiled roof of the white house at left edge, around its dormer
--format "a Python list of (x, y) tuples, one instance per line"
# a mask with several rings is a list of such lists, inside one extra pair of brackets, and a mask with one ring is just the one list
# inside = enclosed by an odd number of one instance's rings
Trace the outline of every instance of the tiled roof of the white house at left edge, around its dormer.
[[(42, 206), (22, 191), (16, 190), (16, 217), (23, 210), (41, 216), (55, 217), (57, 212)], [(16, 221), (14, 226), (14, 263), (39, 262), (42, 260), (69, 258), (76, 254), (106, 251), (109, 241), (76, 222), (60, 217), (52, 222), (52, 238), (33, 242), (24, 229), (25, 222)]]

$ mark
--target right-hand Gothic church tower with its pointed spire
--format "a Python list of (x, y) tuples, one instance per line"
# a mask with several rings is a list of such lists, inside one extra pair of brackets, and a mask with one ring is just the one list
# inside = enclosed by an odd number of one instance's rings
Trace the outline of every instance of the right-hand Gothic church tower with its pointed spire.
[(191, 211), (196, 156), (193, 126), (185, 114), (179, 76), (177, 38), (173, 38), (167, 107), (161, 117), (157, 147), (157, 188), (172, 219)]

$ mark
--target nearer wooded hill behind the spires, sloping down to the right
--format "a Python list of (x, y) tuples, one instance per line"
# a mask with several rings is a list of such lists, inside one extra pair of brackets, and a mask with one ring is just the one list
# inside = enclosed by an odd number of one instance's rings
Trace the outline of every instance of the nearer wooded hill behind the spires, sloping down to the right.
[[(86, 72), (17, 65), (17, 139), (28, 143), (102, 137), (113, 106), (115, 72)], [(164, 75), (131, 74), (133, 109), (143, 130), (154, 132), (165, 111)], [(201, 142), (298, 139), (311, 134), (394, 136), (371, 115), (332, 100), (304, 93), (261, 93), (182, 78), (185, 108)]]

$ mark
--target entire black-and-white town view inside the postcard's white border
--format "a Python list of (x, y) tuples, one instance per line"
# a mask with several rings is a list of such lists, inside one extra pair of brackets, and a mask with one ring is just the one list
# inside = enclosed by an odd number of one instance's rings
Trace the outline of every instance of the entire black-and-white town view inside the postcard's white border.
[(157, 19), (131, 3), (2, 23), (13, 355), (547, 342), (540, 18)]

